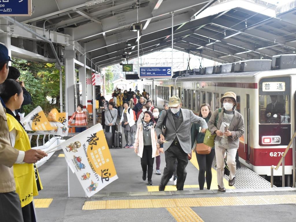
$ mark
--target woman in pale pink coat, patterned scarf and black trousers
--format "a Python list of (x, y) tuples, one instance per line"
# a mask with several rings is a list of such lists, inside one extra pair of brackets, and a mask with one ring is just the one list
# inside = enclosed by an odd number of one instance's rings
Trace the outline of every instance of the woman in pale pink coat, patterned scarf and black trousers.
[(148, 185), (153, 185), (152, 173), (154, 157), (163, 153), (163, 148), (157, 143), (155, 133), (155, 122), (152, 119), (152, 112), (145, 111), (142, 121), (138, 124), (136, 132), (136, 141), (134, 144), (135, 153), (141, 157), (141, 166), (143, 170), (142, 179), (145, 181), (148, 171)]

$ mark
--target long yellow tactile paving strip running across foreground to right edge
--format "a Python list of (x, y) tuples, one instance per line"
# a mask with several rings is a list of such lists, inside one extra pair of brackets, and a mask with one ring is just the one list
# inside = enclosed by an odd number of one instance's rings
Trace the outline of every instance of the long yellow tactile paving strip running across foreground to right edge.
[(82, 210), (296, 204), (296, 195), (86, 201)]

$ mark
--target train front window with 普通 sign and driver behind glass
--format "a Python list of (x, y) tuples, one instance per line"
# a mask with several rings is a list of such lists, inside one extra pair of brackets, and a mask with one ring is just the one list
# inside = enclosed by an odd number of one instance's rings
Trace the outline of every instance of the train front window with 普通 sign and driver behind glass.
[(259, 82), (259, 122), (290, 123), (289, 77), (267, 78)]

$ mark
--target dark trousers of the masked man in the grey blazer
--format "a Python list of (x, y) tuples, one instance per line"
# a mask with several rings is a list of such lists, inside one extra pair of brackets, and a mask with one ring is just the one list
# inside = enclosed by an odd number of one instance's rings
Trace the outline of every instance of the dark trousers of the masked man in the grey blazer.
[(166, 166), (163, 170), (163, 176), (160, 181), (159, 190), (164, 190), (165, 185), (168, 183), (170, 177), (172, 177), (175, 170), (175, 160), (177, 159), (177, 190), (183, 190), (184, 182), (186, 179), (186, 166), (188, 164), (188, 154), (185, 153), (182, 148), (177, 146), (170, 146), (165, 150), (165, 163)]

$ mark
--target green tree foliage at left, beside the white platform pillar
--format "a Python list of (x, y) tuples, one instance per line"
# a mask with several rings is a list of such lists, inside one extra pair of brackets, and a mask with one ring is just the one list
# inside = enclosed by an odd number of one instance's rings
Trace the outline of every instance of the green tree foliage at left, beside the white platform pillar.
[[(20, 81), (24, 81), (25, 88), (32, 95), (33, 104), (23, 106), (24, 112), (28, 114), (37, 106), (41, 106), (45, 113), (52, 108), (59, 110), (59, 69), (53, 63), (13, 60), (12, 66), (20, 70)], [(64, 82), (63, 73), (63, 85)]]

